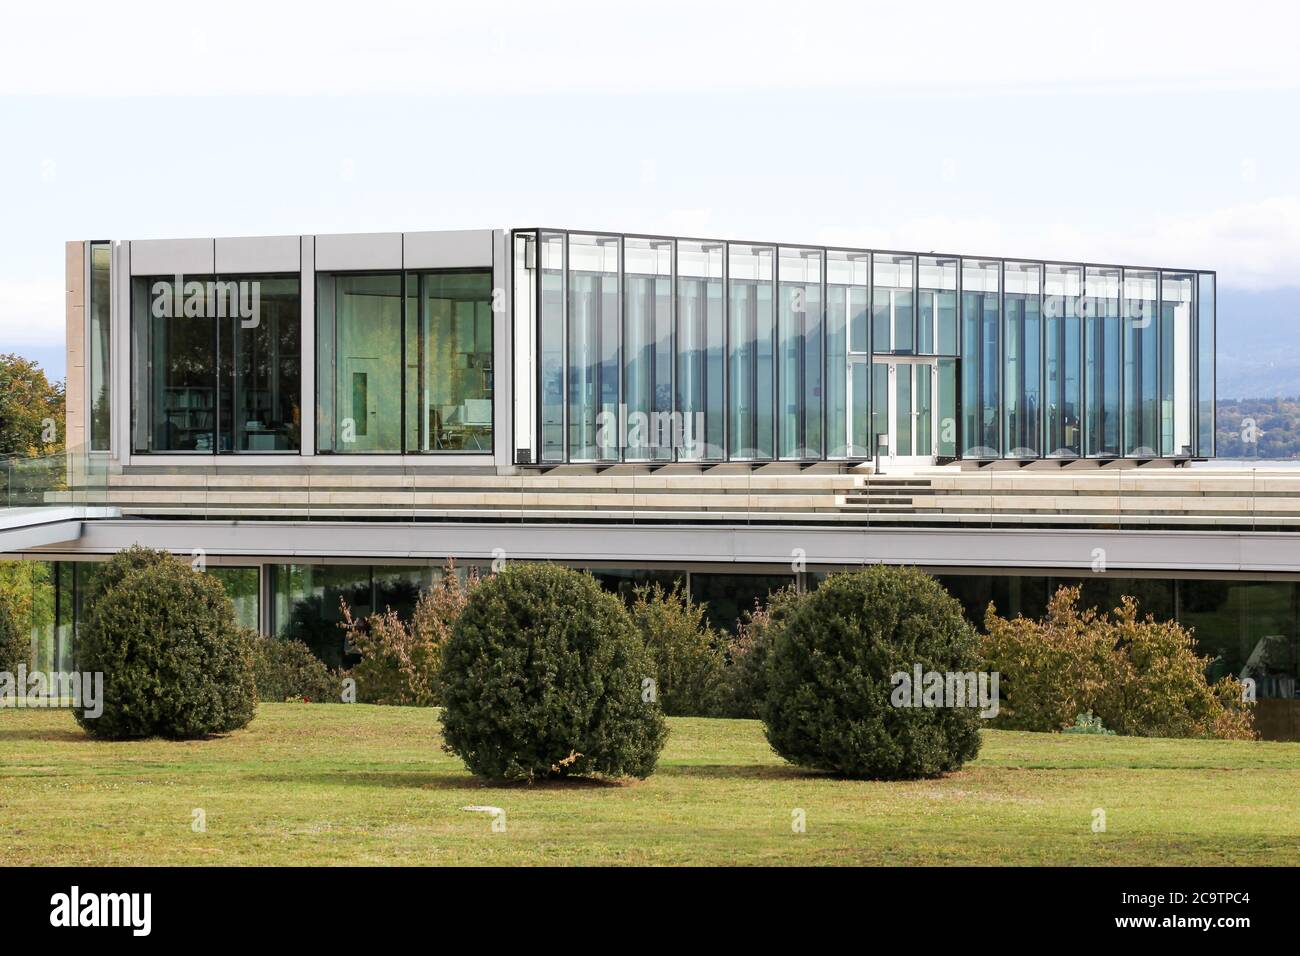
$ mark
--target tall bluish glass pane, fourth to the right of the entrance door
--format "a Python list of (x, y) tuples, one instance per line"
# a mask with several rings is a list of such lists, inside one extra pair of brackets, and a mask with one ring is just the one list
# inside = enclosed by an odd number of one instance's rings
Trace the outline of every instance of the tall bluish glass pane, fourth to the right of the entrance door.
[(1119, 457), (1119, 269), (1089, 267), (1083, 295), (1084, 454)]

